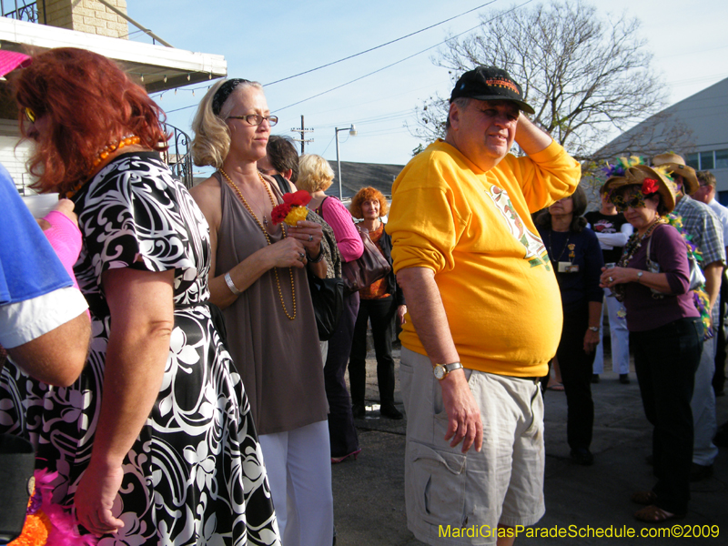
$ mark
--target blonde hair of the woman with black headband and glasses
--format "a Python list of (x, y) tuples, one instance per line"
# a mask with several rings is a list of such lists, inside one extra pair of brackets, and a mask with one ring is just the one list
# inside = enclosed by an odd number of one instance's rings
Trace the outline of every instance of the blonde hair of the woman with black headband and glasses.
[(263, 91), (263, 86), (258, 82), (242, 82), (235, 87), (235, 90), (227, 97), (227, 100), (220, 108), (220, 114), (216, 116), (212, 111), (212, 102), (217, 89), (223, 86), (227, 80), (220, 80), (210, 87), (197, 106), (195, 119), (192, 121), (192, 130), (195, 137), (192, 140), (192, 159), (198, 167), (211, 165), (222, 167), (222, 162), (230, 151), (230, 129), (225, 123), (225, 118), (232, 111), (234, 103), (230, 97), (236, 95), (247, 87), (255, 87)]

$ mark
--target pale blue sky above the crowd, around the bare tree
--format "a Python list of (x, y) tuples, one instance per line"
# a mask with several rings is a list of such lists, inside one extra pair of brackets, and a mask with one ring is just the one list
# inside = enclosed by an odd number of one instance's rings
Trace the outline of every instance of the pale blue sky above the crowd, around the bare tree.
[[(467, 12), (487, 0), (368, 0), (341, 2), (268, 0), (126, 0), (129, 16), (180, 49), (225, 56), (229, 77), (266, 85), (419, 31)], [(490, 5), (418, 35), (306, 76), (265, 87), (268, 106), (280, 118), (273, 134), (298, 137), (301, 115), (313, 128), (306, 151), (336, 158), (334, 128), (357, 126), (358, 136), (339, 133), (342, 161), (404, 164), (419, 144), (405, 123), (414, 124), (414, 107), (428, 96), (449, 96), (450, 76), (434, 66), (435, 47), (451, 33), (468, 31), (491, 8), (523, 5), (494, 0)], [(529, 9), (536, 0), (523, 5)], [(591, 2), (602, 13), (642, 21), (654, 67), (670, 88), (671, 104), (728, 77), (728, 2), (705, 0), (609, 0)], [(130, 27), (130, 32), (136, 29)], [(132, 39), (149, 41), (135, 34)], [(407, 57), (410, 57), (407, 60)], [(390, 66), (397, 63), (395, 66)], [(383, 70), (380, 70), (384, 68)], [(347, 82), (378, 71), (355, 83)], [(290, 106), (333, 87), (339, 89)], [(191, 89), (195, 88), (195, 96)], [(153, 96), (169, 122), (191, 134), (190, 123), (207, 88), (200, 85)], [(186, 106), (195, 106), (187, 107)], [(177, 110), (177, 111), (175, 111)]]

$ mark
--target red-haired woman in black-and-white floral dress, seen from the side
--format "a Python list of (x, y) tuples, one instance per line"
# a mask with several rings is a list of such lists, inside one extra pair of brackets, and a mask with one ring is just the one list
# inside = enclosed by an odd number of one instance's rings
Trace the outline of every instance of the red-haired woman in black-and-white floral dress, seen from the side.
[(35, 187), (76, 203), (92, 313), (76, 383), (25, 393), (54, 502), (109, 541), (278, 543), (248, 399), (206, 305), (207, 223), (158, 154), (163, 113), (81, 49), (35, 56), (14, 86)]

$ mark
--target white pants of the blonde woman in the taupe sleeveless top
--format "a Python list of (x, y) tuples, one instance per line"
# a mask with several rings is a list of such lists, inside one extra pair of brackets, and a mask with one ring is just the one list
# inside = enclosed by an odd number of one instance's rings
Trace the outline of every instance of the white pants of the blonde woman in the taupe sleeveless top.
[(329, 546), (334, 540), (329, 423), (258, 438), (283, 546)]

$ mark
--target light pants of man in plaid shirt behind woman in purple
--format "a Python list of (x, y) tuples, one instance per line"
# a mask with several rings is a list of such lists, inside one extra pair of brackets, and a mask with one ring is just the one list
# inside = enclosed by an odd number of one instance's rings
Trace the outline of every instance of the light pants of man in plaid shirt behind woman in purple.
[[(715, 306), (718, 307), (717, 305)], [(713, 312), (713, 324), (718, 324), (717, 313)], [(715, 393), (713, 392), (713, 373), (715, 372), (715, 338), (703, 342), (703, 354), (695, 372), (695, 386), (690, 408), (693, 410), (693, 462), (710, 466), (718, 456), (718, 448), (713, 445), (713, 436), (718, 430), (715, 418)]]

